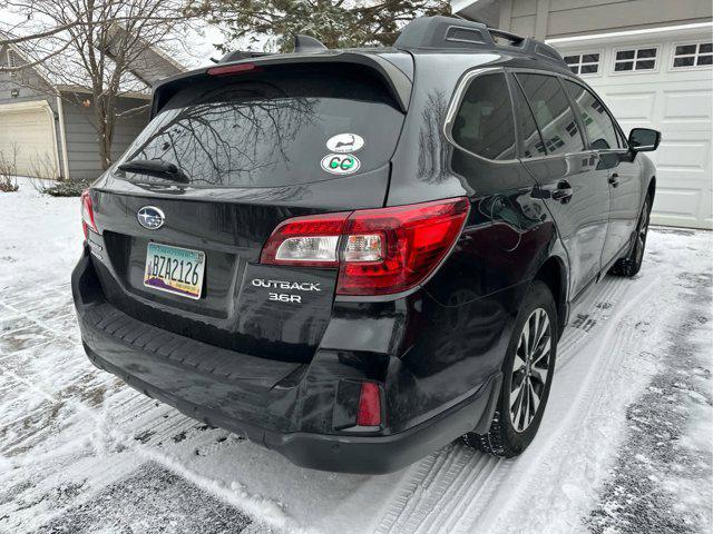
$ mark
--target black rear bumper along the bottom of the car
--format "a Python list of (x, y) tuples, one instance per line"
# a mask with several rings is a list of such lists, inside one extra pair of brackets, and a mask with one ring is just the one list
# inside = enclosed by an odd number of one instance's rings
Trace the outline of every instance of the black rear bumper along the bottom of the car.
[[(243, 355), (138, 322), (106, 300), (88, 251), (72, 273), (72, 294), (85, 350), (97, 367), (191, 417), (246, 436), (304, 467), (345, 473), (399, 469), (466, 432), (487, 429), (499, 393), (501, 377), (496, 374), (400, 432), (339, 432), (333, 428), (334, 390), (319, 390), (321, 383), (310, 382), (311, 374), (323, 378), (331, 373), (333, 360), (314, 369), (314, 362)], [(336, 382), (339, 375), (338, 369)], [(304, 421), (318, 416), (323, 432), (304, 432), (305, 426), (315, 428)]]

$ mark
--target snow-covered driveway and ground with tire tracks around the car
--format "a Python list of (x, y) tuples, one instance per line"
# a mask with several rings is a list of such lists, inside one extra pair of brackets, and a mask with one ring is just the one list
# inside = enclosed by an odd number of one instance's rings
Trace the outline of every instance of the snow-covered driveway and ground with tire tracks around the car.
[(384, 476), (293, 466), (85, 357), (77, 199), (0, 194), (0, 532), (711, 532), (713, 236), (653, 229), (573, 315), (540, 432)]

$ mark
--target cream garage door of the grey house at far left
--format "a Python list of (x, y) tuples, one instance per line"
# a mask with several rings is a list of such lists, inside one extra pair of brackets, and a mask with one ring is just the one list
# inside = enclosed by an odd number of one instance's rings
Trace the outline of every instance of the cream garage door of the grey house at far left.
[(0, 105), (0, 152), (19, 176), (57, 178), (57, 137), (47, 101)]

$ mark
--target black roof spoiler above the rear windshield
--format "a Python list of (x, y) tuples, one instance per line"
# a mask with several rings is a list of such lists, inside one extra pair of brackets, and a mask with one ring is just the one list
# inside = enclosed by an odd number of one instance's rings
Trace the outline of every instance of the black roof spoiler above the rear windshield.
[[(236, 52), (231, 52), (236, 53)], [(256, 53), (256, 52), (251, 52)], [(221, 66), (226, 62), (221, 60)], [(406, 112), (409, 108), (409, 101), (411, 99), (412, 82), (408, 76), (406, 76), (399, 68), (392, 62), (387, 61), (375, 53), (361, 53), (361, 52), (342, 52), (339, 50), (324, 50), (323, 52), (315, 53), (310, 51), (306, 53), (274, 53), (274, 55), (261, 55), (251, 56), (251, 58), (242, 59), (240, 61), (229, 61), (229, 65), (253, 63), (260, 67), (270, 66), (296, 66), (296, 65), (325, 65), (325, 63), (352, 63), (360, 65), (362, 67), (372, 69), (384, 81), (387, 89), (391, 97), (395, 100), (402, 112)], [(213, 67), (201, 68), (184, 72), (177, 76), (166, 78), (154, 86), (153, 101), (152, 101), (152, 118), (160, 111), (166, 102), (178, 92), (191, 86), (197, 80), (205, 80), (213, 78), (208, 75), (208, 70)]]

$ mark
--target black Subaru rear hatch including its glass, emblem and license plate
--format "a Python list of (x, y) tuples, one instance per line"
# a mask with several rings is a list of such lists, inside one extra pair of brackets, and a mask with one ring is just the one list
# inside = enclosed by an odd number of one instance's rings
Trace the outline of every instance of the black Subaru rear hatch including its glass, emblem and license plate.
[[(261, 250), (285, 219), (383, 206), (403, 108), (364, 66), (250, 65), (164, 91), (92, 188), (100, 236), (89, 243), (107, 298), (126, 314), (244, 354), (309, 362), (336, 269), (261, 265)], [(130, 161), (174, 174), (120, 169)]]

